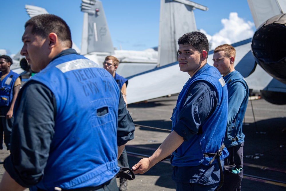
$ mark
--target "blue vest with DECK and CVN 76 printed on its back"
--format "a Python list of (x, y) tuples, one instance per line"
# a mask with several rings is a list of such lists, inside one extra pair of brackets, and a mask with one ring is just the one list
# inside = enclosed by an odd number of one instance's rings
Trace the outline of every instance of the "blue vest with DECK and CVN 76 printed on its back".
[(44, 176), (36, 186), (75, 189), (114, 178), (119, 171), (120, 90), (110, 73), (84, 56), (69, 54), (56, 58), (30, 80), (53, 92), (57, 109)]

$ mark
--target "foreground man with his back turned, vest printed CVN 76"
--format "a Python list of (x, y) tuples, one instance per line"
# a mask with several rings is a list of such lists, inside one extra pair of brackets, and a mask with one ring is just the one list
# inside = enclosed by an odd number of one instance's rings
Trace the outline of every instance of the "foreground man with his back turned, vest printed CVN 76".
[(70, 48), (69, 28), (55, 15), (27, 21), (22, 40), (39, 73), (19, 92), (0, 189), (118, 190), (118, 154), (134, 123), (116, 81)]

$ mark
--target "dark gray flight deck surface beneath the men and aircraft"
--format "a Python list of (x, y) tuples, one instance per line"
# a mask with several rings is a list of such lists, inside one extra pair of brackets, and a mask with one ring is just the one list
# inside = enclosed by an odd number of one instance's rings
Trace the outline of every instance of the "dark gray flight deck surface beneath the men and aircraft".
[[(175, 94), (129, 104), (128, 110), (135, 124), (170, 130), (170, 117), (177, 97), (178, 94)], [(245, 145), (242, 190), (286, 190), (285, 124), (286, 105), (273, 105), (263, 99), (249, 101), (243, 125)], [(142, 157), (152, 155), (168, 134), (135, 126), (134, 139), (126, 145), (130, 168)], [(0, 150), (0, 179), (4, 173), (3, 160), (9, 155), (5, 144), (3, 147)], [(174, 191), (176, 186), (171, 179), (172, 169), (170, 161), (159, 162), (145, 174), (136, 174), (134, 180), (128, 181), (128, 190)], [(119, 178), (117, 182), (119, 185)]]

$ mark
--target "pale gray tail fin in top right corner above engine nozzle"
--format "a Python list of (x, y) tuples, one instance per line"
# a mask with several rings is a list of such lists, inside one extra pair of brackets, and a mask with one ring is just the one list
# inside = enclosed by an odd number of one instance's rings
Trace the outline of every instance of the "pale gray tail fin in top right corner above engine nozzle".
[(256, 29), (269, 18), (286, 13), (285, 0), (247, 0)]

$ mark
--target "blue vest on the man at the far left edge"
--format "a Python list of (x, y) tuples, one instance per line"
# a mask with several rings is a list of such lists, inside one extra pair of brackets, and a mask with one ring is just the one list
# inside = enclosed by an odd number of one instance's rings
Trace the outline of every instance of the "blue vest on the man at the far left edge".
[[(1, 74), (2, 72), (0, 72), (0, 76)], [(11, 105), (14, 83), (19, 76), (19, 74), (10, 71), (10, 73), (0, 82), (0, 106)]]

